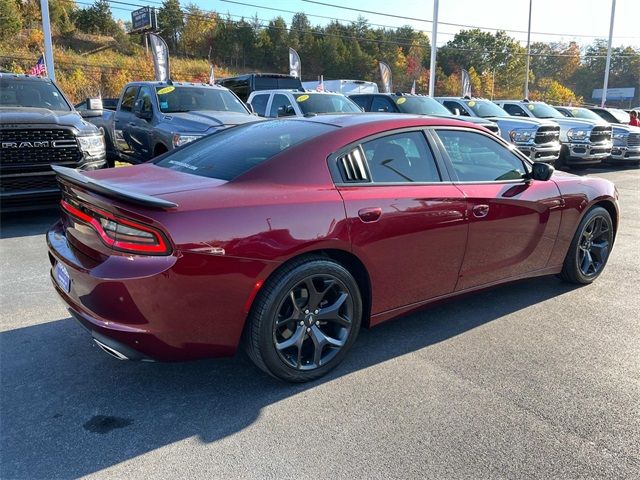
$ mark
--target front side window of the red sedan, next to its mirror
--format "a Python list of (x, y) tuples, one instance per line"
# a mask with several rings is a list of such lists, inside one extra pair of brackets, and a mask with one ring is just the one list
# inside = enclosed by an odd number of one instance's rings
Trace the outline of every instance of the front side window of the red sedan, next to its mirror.
[(461, 182), (521, 180), (527, 169), (497, 141), (466, 130), (436, 130)]

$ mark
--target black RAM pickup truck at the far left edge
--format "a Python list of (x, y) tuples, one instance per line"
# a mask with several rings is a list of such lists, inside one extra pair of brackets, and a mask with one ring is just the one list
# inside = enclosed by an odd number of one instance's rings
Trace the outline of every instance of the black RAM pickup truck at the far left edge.
[(56, 202), (60, 191), (52, 165), (105, 167), (102, 133), (50, 79), (0, 73), (0, 210)]

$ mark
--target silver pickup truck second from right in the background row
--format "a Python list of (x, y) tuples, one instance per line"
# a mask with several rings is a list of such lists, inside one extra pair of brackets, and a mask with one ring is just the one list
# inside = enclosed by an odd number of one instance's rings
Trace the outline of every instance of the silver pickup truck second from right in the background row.
[(523, 118), (550, 119), (560, 125), (562, 151), (556, 162), (564, 166), (584, 168), (601, 163), (611, 155), (611, 125), (604, 120), (567, 118), (544, 102), (529, 100), (496, 100), (509, 114)]

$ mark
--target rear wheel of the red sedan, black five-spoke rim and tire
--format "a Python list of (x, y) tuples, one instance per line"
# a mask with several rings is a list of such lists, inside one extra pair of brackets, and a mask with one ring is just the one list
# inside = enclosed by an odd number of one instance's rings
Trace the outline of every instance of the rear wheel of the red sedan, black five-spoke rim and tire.
[[(335, 319), (329, 319), (330, 313)], [(308, 382), (344, 359), (361, 321), (362, 298), (349, 271), (324, 257), (302, 257), (263, 286), (247, 319), (244, 346), (268, 374)]]

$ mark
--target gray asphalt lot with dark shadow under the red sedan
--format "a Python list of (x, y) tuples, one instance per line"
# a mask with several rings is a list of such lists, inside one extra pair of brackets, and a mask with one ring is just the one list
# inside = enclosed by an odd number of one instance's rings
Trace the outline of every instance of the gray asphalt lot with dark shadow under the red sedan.
[(53, 211), (0, 234), (0, 477), (639, 478), (640, 169), (614, 181), (607, 270), (545, 277), (363, 331), (306, 385), (243, 356), (119, 362), (49, 281)]

